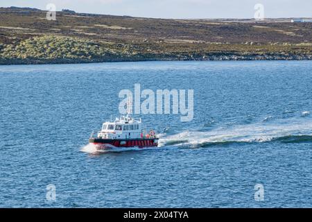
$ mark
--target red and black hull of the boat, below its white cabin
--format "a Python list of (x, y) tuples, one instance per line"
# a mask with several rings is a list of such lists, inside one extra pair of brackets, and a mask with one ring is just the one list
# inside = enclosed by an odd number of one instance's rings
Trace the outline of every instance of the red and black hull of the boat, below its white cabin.
[(144, 139), (101, 139), (90, 138), (90, 144), (94, 144), (98, 150), (107, 150), (111, 148), (148, 148), (158, 146), (158, 138), (144, 138)]

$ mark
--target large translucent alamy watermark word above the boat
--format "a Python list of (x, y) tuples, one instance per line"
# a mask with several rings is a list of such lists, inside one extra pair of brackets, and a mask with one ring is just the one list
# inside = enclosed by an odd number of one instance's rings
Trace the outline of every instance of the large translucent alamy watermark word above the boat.
[[(141, 85), (137, 83), (134, 94), (130, 89), (122, 89), (119, 98), (123, 99), (119, 103), (121, 114), (126, 114), (128, 110), (134, 114), (171, 114), (172, 110), (172, 114), (181, 114), (180, 120), (183, 122), (191, 121), (194, 116), (193, 89), (157, 89), (155, 93), (152, 89), (141, 91)], [(142, 103), (141, 99), (144, 99)], [(129, 101), (130, 109), (128, 109)], [(134, 112), (132, 104), (134, 104)]]

